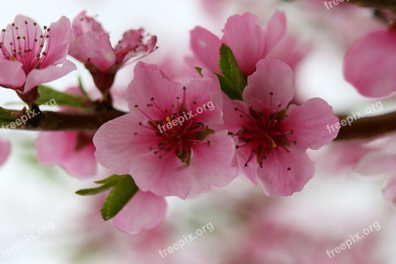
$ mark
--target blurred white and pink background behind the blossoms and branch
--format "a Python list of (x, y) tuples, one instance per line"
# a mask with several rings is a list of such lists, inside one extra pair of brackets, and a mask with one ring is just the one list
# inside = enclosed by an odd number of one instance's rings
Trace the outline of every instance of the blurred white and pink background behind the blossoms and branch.
[[(116, 44), (128, 29), (144, 27), (158, 37), (159, 49), (144, 58), (156, 63), (177, 80), (183, 72), (190, 30), (196, 26), (222, 36), (230, 15), (250, 11), (265, 26), (275, 9), (286, 12), (288, 32), (300, 40), (304, 54), (296, 69), (296, 100), (321, 97), (335, 113), (349, 115), (376, 101), (358, 95), (343, 78), (343, 58), (353, 42), (384, 27), (373, 11), (340, 4), (328, 10), (322, 0), (0, 0), (0, 27), (15, 15), (32, 17), (49, 25), (66, 15), (73, 19), (82, 10), (96, 16)], [(60, 91), (78, 84), (94, 87), (85, 67), (78, 66), (50, 84)], [(123, 95), (133, 78), (128, 65), (117, 75), (113, 89)], [(1, 89), (0, 106), (21, 109), (12, 90)], [(382, 100), (381, 113), (395, 108)], [(125, 108), (122, 99), (118, 105)], [(373, 112), (373, 114), (376, 114)], [(378, 114), (378, 113), (377, 113)], [(361, 176), (341, 165), (343, 143), (309, 152), (317, 161), (316, 174), (300, 193), (268, 198), (240, 176), (223, 189), (213, 188), (194, 200), (167, 198), (167, 215), (155, 229), (130, 236), (100, 217), (105, 196), (80, 197), (75, 191), (93, 186), (95, 177), (80, 180), (61, 167), (46, 167), (36, 158), (38, 133), (0, 132), (11, 144), (11, 155), (0, 167), (0, 250), (47, 228), (40, 237), (9, 257), (4, 264), (394, 264), (396, 263), (396, 209), (381, 191), (390, 175)], [(350, 150), (349, 150), (350, 151)], [(99, 169), (98, 178), (106, 175)], [(357, 241), (351, 249), (330, 259), (326, 250), (344, 243), (370, 224), (380, 229)], [(211, 223), (212, 232), (161, 258), (160, 249), (172, 246), (183, 235)]]

